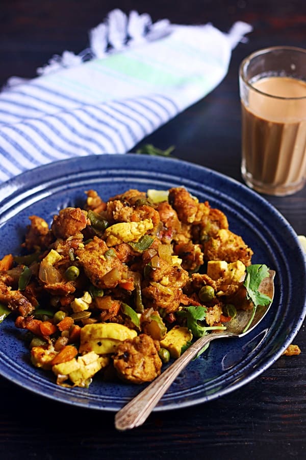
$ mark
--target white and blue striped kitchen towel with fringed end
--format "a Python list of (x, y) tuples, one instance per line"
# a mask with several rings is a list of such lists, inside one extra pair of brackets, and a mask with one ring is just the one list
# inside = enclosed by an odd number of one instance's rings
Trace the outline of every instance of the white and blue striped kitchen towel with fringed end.
[(90, 48), (64, 52), (0, 94), (0, 182), (59, 159), (125, 153), (220, 83), (251, 27), (152, 24), (113, 10)]

